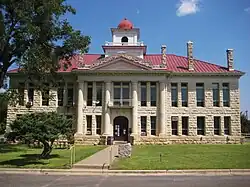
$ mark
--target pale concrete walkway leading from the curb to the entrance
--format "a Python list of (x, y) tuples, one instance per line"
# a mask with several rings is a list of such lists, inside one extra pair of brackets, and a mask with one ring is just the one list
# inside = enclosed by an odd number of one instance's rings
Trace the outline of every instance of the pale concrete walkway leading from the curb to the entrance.
[(74, 164), (73, 168), (107, 169), (118, 155), (118, 145), (109, 146)]

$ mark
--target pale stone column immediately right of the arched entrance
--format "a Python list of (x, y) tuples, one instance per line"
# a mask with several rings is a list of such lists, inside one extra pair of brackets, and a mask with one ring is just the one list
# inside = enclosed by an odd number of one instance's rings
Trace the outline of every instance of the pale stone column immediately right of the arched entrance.
[(132, 136), (138, 134), (138, 82), (132, 82)]

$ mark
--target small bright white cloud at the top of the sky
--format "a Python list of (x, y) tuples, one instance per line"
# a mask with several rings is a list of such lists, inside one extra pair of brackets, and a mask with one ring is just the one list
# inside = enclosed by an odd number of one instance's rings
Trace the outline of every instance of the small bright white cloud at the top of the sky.
[(177, 4), (177, 16), (186, 16), (189, 14), (197, 13), (199, 9), (199, 1), (200, 0), (180, 0)]

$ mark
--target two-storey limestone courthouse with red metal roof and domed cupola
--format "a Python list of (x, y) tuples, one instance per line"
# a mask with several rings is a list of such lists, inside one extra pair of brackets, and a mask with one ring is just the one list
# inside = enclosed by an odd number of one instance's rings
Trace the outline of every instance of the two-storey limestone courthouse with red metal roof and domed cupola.
[(165, 45), (147, 54), (140, 29), (127, 19), (111, 34), (103, 54), (76, 55), (71, 67), (58, 71), (65, 81), (47, 90), (52, 100), (11, 70), (10, 86), (23, 97), (9, 106), (7, 123), (26, 112), (58, 111), (74, 119), (76, 142), (83, 144), (103, 137), (135, 144), (240, 141), (244, 73), (234, 69), (232, 49), (222, 67), (195, 59), (190, 41), (187, 56), (168, 54)]

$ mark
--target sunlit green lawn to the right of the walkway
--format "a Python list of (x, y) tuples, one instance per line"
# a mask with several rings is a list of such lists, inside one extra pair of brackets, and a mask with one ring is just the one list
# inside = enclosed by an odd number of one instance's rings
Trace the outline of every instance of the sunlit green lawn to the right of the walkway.
[(229, 168), (250, 168), (250, 144), (133, 146), (131, 158), (112, 166), (124, 170)]

